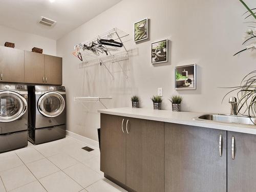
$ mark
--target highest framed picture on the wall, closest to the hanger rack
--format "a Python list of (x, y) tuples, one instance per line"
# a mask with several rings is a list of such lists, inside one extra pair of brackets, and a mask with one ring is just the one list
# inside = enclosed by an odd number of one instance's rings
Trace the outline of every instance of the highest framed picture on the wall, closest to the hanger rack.
[(148, 39), (148, 18), (144, 18), (134, 24), (134, 42)]

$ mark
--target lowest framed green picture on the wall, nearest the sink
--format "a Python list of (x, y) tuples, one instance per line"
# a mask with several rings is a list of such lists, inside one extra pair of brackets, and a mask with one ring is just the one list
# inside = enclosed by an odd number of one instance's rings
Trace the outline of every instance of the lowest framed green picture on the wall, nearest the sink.
[(175, 66), (175, 89), (196, 89), (196, 64), (186, 66)]

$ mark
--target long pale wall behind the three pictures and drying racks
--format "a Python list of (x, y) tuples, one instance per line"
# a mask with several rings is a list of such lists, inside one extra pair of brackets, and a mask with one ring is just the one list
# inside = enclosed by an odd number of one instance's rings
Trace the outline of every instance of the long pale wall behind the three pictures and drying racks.
[[(250, 3), (252, 8), (255, 2)], [(242, 49), (246, 29), (241, 15), (246, 10), (233, 0), (123, 0), (111, 9), (57, 40), (57, 54), (63, 57), (63, 84), (67, 87), (68, 130), (97, 140), (100, 126), (99, 103), (74, 102), (74, 96), (112, 96), (109, 108), (131, 106), (130, 97), (138, 94), (141, 107), (152, 108), (150, 97), (163, 88), (163, 108), (170, 109), (168, 97), (184, 97), (184, 111), (229, 113), (222, 97), (226, 89), (237, 86), (242, 77), (255, 69), (255, 53), (232, 56)], [(133, 23), (150, 18), (150, 41), (128, 43), (138, 55), (120, 65), (108, 63), (115, 79), (99, 65), (80, 66), (72, 56), (73, 46), (117, 27), (133, 37)], [(169, 62), (151, 65), (151, 42), (170, 39)], [(197, 63), (197, 90), (175, 91), (174, 66)]]

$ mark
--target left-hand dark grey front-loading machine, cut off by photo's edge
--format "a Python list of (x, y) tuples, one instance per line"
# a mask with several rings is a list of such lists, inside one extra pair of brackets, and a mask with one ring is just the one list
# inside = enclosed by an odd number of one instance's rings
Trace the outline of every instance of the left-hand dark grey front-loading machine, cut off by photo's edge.
[(28, 89), (0, 83), (0, 153), (28, 145)]

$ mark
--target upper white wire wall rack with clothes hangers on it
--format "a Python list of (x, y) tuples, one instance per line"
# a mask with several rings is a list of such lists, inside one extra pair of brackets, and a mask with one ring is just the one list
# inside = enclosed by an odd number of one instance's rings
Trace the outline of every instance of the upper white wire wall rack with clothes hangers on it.
[(129, 41), (129, 34), (114, 28), (95, 38), (74, 46), (73, 55), (83, 64), (119, 62), (129, 59), (124, 43)]

